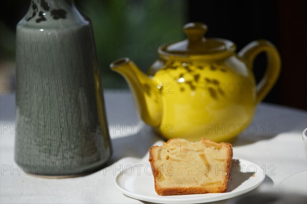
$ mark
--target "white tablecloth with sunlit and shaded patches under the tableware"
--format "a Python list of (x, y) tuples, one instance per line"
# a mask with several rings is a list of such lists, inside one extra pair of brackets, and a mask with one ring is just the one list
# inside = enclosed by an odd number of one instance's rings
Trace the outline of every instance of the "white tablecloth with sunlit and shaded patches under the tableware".
[[(148, 160), (148, 149), (161, 139), (146, 130), (137, 117), (130, 94), (105, 93), (107, 120), (114, 127), (110, 129), (114, 154), (108, 166), (87, 176), (65, 179), (25, 175), (14, 162), (14, 100), (13, 95), (0, 96), (1, 203), (142, 203), (116, 188), (115, 174), (125, 165)], [(125, 125), (134, 129), (116, 129)], [(301, 139), (307, 127), (306, 111), (262, 103), (249, 127), (233, 144), (233, 154), (265, 169), (266, 179), (254, 191), (274, 188), (284, 178), (306, 170)]]

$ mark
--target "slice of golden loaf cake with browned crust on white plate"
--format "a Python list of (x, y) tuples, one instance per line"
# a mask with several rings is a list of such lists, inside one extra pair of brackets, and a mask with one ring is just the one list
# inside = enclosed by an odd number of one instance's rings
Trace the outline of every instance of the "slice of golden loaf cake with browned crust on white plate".
[(222, 193), (227, 189), (232, 146), (207, 139), (168, 140), (149, 150), (158, 195)]

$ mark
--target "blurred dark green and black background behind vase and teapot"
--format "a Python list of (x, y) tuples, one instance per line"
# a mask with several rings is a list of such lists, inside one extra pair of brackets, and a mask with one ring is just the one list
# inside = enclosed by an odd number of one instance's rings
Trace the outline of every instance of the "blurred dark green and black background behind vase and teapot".
[[(185, 38), (182, 27), (200, 21), (208, 26), (206, 37), (236, 43), (237, 52), (255, 39), (268, 39), (280, 52), (282, 69), (265, 102), (307, 109), (307, 1), (286, 0), (74, 0), (93, 22), (104, 90), (129, 92), (124, 79), (109, 70), (109, 64), (129, 57), (145, 72), (157, 59), (161, 44)], [(202, 6), (202, 5), (205, 6)], [(0, 7), (0, 84), (14, 83), (17, 22), (26, 14), (30, 0), (2, 1)], [(256, 81), (266, 71), (261, 53), (254, 62)], [(125, 86), (125, 87), (124, 87)], [(124, 88), (123, 88), (124, 87)], [(11, 92), (10, 92), (11, 93)], [(0, 93), (2, 94), (2, 93)]]

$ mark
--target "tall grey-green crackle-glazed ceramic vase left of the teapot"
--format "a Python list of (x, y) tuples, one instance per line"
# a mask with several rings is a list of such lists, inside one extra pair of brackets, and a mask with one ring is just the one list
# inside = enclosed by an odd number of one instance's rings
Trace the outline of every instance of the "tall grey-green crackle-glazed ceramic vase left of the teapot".
[(48, 176), (102, 168), (112, 150), (90, 19), (72, 0), (32, 0), (16, 43), (17, 164)]

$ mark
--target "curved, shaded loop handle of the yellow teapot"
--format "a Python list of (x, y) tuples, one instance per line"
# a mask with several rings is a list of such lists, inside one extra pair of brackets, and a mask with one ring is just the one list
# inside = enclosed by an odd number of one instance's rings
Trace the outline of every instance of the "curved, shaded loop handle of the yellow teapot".
[(261, 52), (267, 55), (267, 69), (257, 84), (256, 104), (262, 101), (276, 83), (280, 73), (280, 56), (276, 47), (268, 40), (255, 40), (247, 44), (238, 56), (246, 60), (249, 69), (253, 69), (255, 57)]

